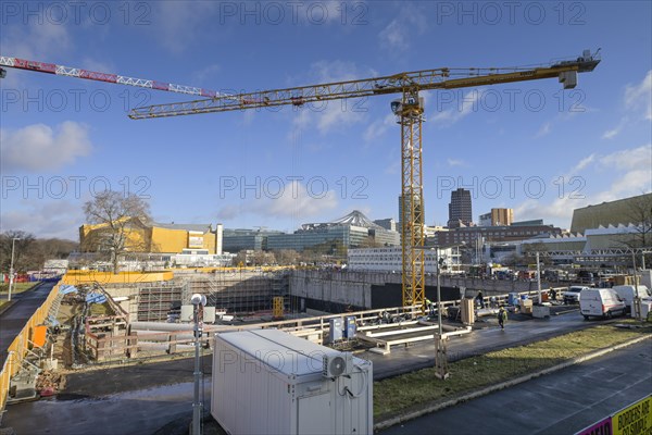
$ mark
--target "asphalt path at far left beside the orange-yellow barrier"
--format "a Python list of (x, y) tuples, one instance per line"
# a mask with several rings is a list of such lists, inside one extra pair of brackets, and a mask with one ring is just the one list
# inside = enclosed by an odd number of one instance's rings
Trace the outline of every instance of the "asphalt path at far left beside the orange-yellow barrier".
[(12, 306), (0, 314), (0, 368), (7, 360), (9, 345), (48, 298), (54, 284), (57, 283), (42, 283), (33, 290), (11, 295)]

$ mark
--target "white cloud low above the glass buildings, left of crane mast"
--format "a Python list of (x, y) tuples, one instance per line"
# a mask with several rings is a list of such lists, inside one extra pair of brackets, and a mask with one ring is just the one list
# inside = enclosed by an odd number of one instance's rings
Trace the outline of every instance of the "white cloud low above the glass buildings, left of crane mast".
[(319, 216), (324, 212), (337, 208), (337, 195), (334, 190), (325, 190), (324, 183), (317, 178), (310, 179), (306, 184), (293, 181), (281, 188), (277, 184), (269, 184), (269, 191), (263, 188), (260, 198), (244, 200), (238, 206), (223, 207), (218, 217), (224, 220), (241, 219), (243, 214), (269, 219), (292, 217), (302, 220)]

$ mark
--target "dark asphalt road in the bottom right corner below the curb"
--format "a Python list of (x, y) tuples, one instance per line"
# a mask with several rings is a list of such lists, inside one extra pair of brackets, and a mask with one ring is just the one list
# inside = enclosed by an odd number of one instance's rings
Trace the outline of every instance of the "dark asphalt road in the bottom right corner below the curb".
[(652, 346), (644, 340), (381, 433), (574, 434), (651, 393)]

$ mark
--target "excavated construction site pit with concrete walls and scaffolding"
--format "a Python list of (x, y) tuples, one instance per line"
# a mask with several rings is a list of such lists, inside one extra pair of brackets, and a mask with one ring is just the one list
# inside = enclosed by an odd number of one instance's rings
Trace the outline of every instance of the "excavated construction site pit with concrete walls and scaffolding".
[[(171, 276), (167, 272), (165, 277)], [(233, 269), (175, 272), (167, 281), (149, 281), (161, 274), (106, 275), (106, 281), (133, 283), (100, 284), (86, 281), (88, 277), (72, 272), (62, 283), (74, 285), (53, 288), (39, 337), (33, 335), (27, 341), (33, 350), (22, 369), (32, 384), (14, 378), (10, 402), (42, 394), (35, 387), (32, 369), (99, 368), (189, 355), (195, 344), (191, 298), (196, 294), (206, 296), (202, 341), (208, 347), (212, 347), (214, 333), (279, 328), (318, 345), (380, 355), (389, 355), (392, 346), (432, 340), (439, 334), (444, 339), (469, 334), (477, 321), (481, 325), (484, 316), (494, 318), (500, 306), (529, 319), (549, 318), (551, 312), (567, 309), (560, 306), (556, 296), (555, 301), (549, 300), (552, 290), (563, 299), (566, 286), (547, 284), (538, 290), (532, 283), (500, 286), (497, 281), (484, 285), (476, 281), (474, 287), (462, 286), (461, 293), (459, 285), (471, 285), (472, 281), (459, 277), (448, 277), (447, 286), (440, 283), (439, 288), (427, 279), (426, 294), (434, 302), (425, 310), (397, 306), (401, 288), (392, 274)], [(457, 286), (449, 286), (451, 279)], [(484, 295), (481, 300), (478, 293)]]

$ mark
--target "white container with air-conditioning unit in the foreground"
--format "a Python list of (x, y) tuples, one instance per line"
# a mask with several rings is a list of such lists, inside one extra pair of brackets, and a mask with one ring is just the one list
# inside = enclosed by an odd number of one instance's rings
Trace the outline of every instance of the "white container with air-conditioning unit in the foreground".
[[(325, 377), (343, 357), (342, 375)], [(373, 434), (372, 362), (278, 330), (215, 335), (211, 414), (229, 434)]]

